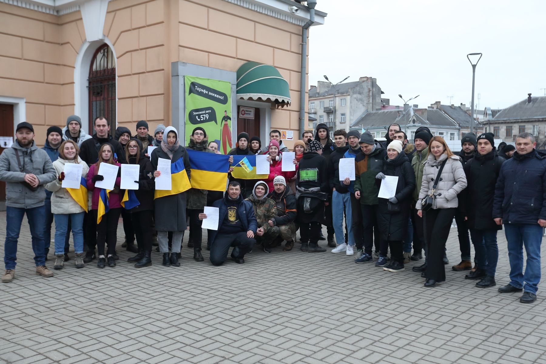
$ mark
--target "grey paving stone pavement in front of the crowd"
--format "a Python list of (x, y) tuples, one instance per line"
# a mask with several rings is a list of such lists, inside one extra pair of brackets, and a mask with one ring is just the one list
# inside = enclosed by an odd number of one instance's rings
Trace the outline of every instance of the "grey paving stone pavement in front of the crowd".
[[(5, 212), (0, 226), (3, 241)], [(502, 231), (497, 287), (450, 269), (460, 256), (452, 229), (447, 281), (425, 289), (411, 271), (419, 262), (390, 273), (298, 243), (215, 267), (206, 250), (193, 261), (186, 236), (181, 267), (152, 252), (153, 266), (137, 269), (119, 227), (115, 268), (70, 260), (43, 278), (23, 224), (15, 280), (0, 284), (0, 363), (546, 364), (544, 284), (532, 305), (497, 293), (509, 281)]]

